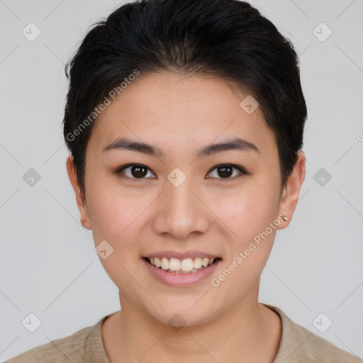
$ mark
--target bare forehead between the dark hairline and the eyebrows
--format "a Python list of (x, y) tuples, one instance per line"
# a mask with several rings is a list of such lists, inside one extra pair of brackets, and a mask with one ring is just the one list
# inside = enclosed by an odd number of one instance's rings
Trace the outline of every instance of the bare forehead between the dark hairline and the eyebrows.
[(247, 96), (234, 82), (204, 74), (140, 74), (99, 115), (89, 147), (101, 152), (126, 136), (185, 151), (239, 137), (269, 153), (274, 134), (259, 108), (247, 113), (240, 106)]

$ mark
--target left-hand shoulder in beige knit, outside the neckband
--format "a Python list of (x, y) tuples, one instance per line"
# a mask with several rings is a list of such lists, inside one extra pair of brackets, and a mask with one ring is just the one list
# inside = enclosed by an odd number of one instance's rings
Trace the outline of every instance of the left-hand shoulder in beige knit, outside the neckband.
[[(102, 319), (103, 320), (103, 319)], [(99, 332), (101, 321), (67, 337), (52, 340), (16, 355), (5, 363), (80, 363), (86, 362), (86, 343), (92, 332)]]

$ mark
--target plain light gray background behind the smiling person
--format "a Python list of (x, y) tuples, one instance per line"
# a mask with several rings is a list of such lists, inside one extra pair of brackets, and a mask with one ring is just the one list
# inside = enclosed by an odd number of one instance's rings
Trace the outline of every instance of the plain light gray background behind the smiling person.
[[(64, 64), (92, 23), (120, 1), (0, 0), (0, 358), (65, 337), (118, 311), (118, 290), (94, 252), (65, 169)], [(363, 1), (252, 1), (301, 60), (308, 106), (306, 180), (279, 230), (259, 301), (363, 357)], [(41, 35), (30, 42), (23, 28)], [(333, 34), (320, 41), (324, 22)], [(326, 29), (319, 30), (326, 35)], [(29, 186), (23, 174), (41, 179)], [(324, 168), (332, 179), (314, 179)], [(326, 179), (325, 179), (326, 180)], [(42, 324), (22, 325), (34, 313)], [(313, 320), (333, 325), (320, 333)]]

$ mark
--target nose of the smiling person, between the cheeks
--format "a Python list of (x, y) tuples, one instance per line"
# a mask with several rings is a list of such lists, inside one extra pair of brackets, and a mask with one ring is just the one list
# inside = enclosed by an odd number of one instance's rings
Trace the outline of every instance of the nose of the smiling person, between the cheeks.
[(170, 235), (174, 240), (185, 240), (206, 233), (211, 224), (210, 215), (201, 189), (191, 178), (187, 177), (179, 186), (167, 179), (152, 218), (152, 228), (155, 233)]

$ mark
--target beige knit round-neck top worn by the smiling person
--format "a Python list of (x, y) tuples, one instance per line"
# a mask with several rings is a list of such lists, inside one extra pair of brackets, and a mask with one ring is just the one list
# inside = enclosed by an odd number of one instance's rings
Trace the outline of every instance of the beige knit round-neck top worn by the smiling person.
[[(281, 342), (274, 363), (363, 362), (362, 358), (341, 350), (328, 340), (294, 323), (276, 306), (265, 303), (263, 305), (277, 312), (282, 323)], [(111, 363), (101, 335), (101, 325), (109, 315), (101, 318), (95, 325), (23, 352), (6, 363)]]

